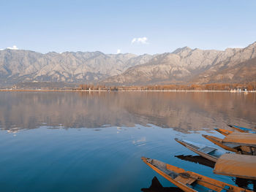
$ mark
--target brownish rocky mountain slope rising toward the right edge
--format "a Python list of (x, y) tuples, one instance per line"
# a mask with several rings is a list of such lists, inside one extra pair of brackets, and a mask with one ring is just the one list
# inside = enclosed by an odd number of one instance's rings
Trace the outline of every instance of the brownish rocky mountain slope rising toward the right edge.
[(244, 49), (228, 48), (224, 51), (179, 48), (173, 53), (157, 55), (148, 63), (133, 66), (104, 82), (146, 85), (255, 81), (255, 50), (256, 42)]

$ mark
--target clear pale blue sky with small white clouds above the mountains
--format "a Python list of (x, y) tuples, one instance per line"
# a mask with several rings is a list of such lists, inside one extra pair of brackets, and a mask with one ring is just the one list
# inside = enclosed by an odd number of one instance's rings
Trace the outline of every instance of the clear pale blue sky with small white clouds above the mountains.
[(40, 53), (224, 50), (256, 41), (256, 1), (0, 0), (0, 48)]

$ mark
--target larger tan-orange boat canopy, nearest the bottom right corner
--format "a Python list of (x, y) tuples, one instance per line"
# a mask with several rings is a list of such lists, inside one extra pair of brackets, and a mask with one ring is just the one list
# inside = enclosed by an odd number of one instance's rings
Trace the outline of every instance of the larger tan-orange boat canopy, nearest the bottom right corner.
[(256, 180), (256, 156), (226, 153), (218, 158), (214, 173)]

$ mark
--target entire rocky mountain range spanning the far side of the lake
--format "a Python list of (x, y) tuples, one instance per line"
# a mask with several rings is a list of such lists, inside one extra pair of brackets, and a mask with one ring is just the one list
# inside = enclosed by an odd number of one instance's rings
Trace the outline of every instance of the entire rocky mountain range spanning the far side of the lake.
[(178, 48), (158, 55), (0, 50), (0, 85), (18, 82), (105, 85), (256, 81), (256, 42), (244, 49)]

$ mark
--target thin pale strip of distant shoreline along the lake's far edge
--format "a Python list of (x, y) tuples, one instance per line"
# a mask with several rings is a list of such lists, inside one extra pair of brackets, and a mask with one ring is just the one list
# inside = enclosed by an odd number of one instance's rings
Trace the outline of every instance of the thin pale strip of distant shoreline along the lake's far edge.
[(217, 91), (217, 90), (73, 90), (73, 89), (0, 89), (0, 92), (230, 92), (230, 93), (256, 93), (256, 91)]

